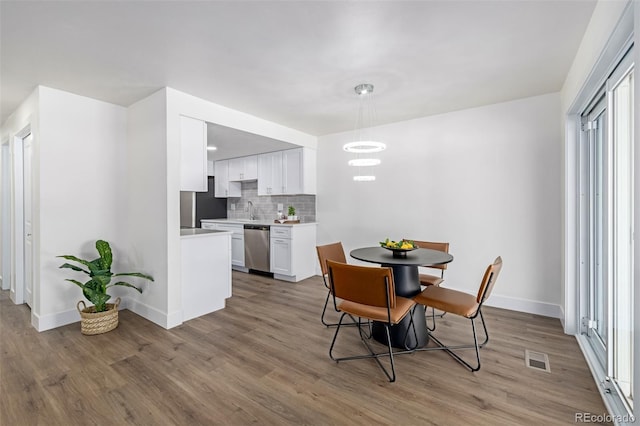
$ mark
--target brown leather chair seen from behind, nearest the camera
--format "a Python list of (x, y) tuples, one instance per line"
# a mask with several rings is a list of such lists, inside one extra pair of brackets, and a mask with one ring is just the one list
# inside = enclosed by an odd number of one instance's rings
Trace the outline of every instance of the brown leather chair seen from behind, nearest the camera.
[[(368, 266), (348, 265), (342, 262), (334, 262), (327, 260), (327, 268), (329, 270), (329, 285), (331, 286), (331, 294), (333, 294), (334, 304), (337, 309), (342, 312), (338, 327), (333, 335), (333, 341), (329, 348), (329, 356), (336, 362), (348, 361), (352, 359), (373, 358), (376, 360), (384, 374), (390, 382), (396, 380), (395, 365), (393, 362), (394, 354), (411, 353), (409, 351), (394, 352), (391, 348), (391, 337), (389, 335), (389, 327), (398, 324), (403, 318), (411, 312), (415, 306), (415, 302), (411, 299), (397, 296), (395, 292), (395, 284), (393, 282), (393, 273), (391, 268), (377, 268)], [(342, 299), (339, 303), (336, 299)], [(358, 317), (358, 334), (364, 345), (369, 350), (367, 355), (356, 355), (342, 358), (333, 356), (333, 348), (336, 338), (340, 332), (340, 327), (345, 316)], [(378, 321), (385, 327), (388, 351), (376, 353), (367, 341), (371, 335), (366, 335), (362, 331), (361, 320)], [(411, 320), (410, 326), (413, 325)], [(412, 327), (415, 332), (415, 327)], [(391, 364), (391, 374), (384, 368), (379, 358), (388, 356)]]

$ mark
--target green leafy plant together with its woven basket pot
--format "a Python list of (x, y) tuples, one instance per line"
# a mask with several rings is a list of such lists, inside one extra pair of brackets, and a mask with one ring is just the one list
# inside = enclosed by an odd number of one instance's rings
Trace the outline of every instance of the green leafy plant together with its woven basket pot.
[[(82, 272), (89, 276), (89, 281), (85, 283), (71, 278), (66, 279), (66, 281), (72, 282), (80, 287), (84, 297), (94, 305), (86, 307), (82, 300), (76, 305), (78, 312), (80, 312), (82, 334), (106, 333), (118, 326), (118, 305), (120, 304), (120, 298), (116, 299), (115, 303), (107, 303), (109, 299), (111, 299), (111, 295), (107, 294), (109, 287), (113, 287), (114, 285), (130, 287), (142, 293), (142, 289), (133, 284), (124, 281), (112, 283), (112, 277), (131, 276), (153, 281), (153, 277), (141, 272), (121, 272), (118, 274), (111, 272), (113, 254), (108, 242), (104, 240), (96, 241), (96, 250), (98, 250), (100, 257), (90, 261), (72, 255), (57, 256), (86, 267), (85, 269), (70, 263), (64, 263), (60, 265), (60, 268), (73, 269), (74, 271)], [(82, 309), (80, 308), (81, 304)]]

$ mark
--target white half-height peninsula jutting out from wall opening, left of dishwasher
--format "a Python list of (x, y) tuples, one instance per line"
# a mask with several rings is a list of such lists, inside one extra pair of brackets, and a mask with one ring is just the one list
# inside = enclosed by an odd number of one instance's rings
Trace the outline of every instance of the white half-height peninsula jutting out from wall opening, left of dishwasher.
[(223, 309), (231, 297), (231, 235), (180, 229), (183, 321)]

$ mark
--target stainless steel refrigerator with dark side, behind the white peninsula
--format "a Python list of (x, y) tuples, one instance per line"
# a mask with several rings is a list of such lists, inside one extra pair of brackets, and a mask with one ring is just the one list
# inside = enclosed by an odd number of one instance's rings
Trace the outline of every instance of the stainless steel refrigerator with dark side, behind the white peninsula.
[(202, 219), (226, 219), (227, 199), (214, 196), (214, 177), (207, 180), (207, 192), (180, 191), (180, 227), (200, 228)]

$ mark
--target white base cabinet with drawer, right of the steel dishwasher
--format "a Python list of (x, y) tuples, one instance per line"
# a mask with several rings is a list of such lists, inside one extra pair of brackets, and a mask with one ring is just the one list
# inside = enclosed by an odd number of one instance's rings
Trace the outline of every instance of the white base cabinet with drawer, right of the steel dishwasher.
[(271, 272), (279, 280), (298, 282), (316, 274), (316, 225), (271, 226)]

